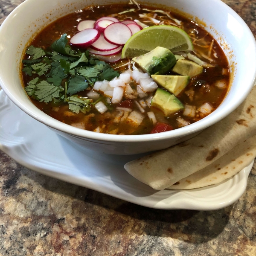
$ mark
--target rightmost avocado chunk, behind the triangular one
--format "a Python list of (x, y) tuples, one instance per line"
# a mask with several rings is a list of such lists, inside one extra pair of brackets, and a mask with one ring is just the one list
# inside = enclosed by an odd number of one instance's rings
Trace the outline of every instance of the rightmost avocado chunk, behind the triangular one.
[(193, 61), (177, 60), (172, 71), (182, 76), (197, 76), (203, 72), (204, 68)]

